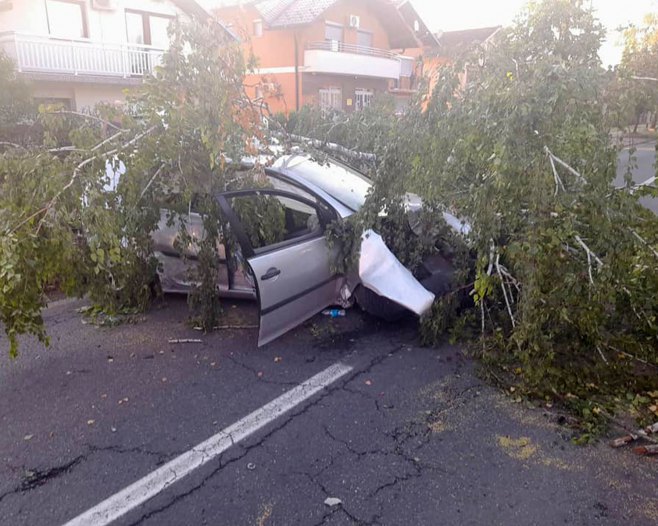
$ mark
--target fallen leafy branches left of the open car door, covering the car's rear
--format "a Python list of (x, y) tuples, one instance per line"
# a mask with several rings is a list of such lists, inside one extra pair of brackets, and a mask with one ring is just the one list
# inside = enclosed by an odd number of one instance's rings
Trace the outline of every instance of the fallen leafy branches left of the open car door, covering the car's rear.
[[(0, 93), (20, 93), (7, 59), (0, 65)], [(228, 159), (249, 151), (259, 122), (242, 88), (247, 66), (217, 25), (177, 25), (162, 65), (127, 110), (42, 107), (30, 116), (39, 141), (0, 138), (0, 320), (13, 355), (20, 334), (47, 342), (41, 310), (53, 281), (110, 314), (148, 304), (156, 269), (150, 233), (165, 198), (176, 193), (189, 203), (239, 184)], [(16, 122), (25, 111), (19, 100), (0, 100), (3, 118)], [(194, 240), (183, 227), (180, 242), (200, 245), (192, 306), (208, 328), (219, 311), (221, 228), (214, 201), (200, 206), (207, 235)]]

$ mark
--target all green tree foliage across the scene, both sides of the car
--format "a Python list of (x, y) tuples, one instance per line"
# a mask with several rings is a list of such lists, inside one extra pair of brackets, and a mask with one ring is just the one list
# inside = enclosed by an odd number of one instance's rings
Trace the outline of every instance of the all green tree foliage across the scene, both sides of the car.
[[(345, 261), (358, 257), (365, 228), (410, 267), (437, 239), (452, 255), (460, 271), (421, 321), (424, 342), (467, 342), (514, 397), (578, 415), (582, 440), (620, 411), (655, 421), (658, 218), (638, 197), (657, 192), (630, 174), (612, 187), (610, 133), (657, 106), (658, 82), (633, 78), (656, 76), (647, 69), (658, 64), (655, 20), (648, 24), (627, 31), (622, 66), (606, 72), (604, 29), (584, 2), (532, 3), (495, 45), (440, 69), (432, 92), (421, 90), (403, 115), (387, 99), (349, 116), (305, 108), (271, 119), (269, 131), (241, 87), (249, 64), (212, 26), (176, 29), (129, 111), (34, 112), (18, 97), (0, 99), (0, 320), (11, 352), (20, 334), (47, 341), (41, 310), (53, 281), (108, 312), (144, 309), (162, 199), (174, 189), (191, 198), (238, 188), (251, 174), (229, 161), (255, 153), (254, 139), (301, 135), (374, 154), (347, 159), (375, 184), (359, 214), (330, 229)], [(25, 93), (7, 63), (0, 68), (0, 94)], [(17, 123), (23, 134), (12, 138)], [(108, 191), (99, 174), (122, 163), (126, 173)], [(424, 201), (418, 238), (399, 230), (406, 192)], [(183, 242), (200, 243), (191, 304), (212, 328), (222, 226), (212, 200), (202, 206), (208, 236)], [(398, 220), (383, 222), (383, 209)], [(467, 239), (451, 233), (443, 210), (471, 226)]]

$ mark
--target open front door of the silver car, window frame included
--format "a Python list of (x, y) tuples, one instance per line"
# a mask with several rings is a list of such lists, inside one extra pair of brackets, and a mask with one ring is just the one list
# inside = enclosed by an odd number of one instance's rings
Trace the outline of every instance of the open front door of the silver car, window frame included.
[(273, 189), (227, 192), (218, 202), (256, 282), (259, 346), (336, 302), (343, 278), (324, 236), (330, 209)]

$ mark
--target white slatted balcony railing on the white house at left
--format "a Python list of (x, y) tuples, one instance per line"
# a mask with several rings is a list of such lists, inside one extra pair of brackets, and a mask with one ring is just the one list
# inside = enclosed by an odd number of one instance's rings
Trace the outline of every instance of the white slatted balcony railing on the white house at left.
[(123, 78), (150, 74), (164, 54), (152, 46), (20, 33), (0, 33), (0, 48), (20, 72)]

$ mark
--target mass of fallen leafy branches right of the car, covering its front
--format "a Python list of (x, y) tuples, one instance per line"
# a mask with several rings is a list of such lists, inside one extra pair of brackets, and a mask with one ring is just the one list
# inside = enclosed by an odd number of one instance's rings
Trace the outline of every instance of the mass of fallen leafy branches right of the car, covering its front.
[(630, 177), (611, 186), (602, 37), (583, 2), (533, 4), (484, 65), (474, 66), (480, 49), (441, 69), (426, 105), (317, 128), (377, 155), (362, 226), (409, 190), (472, 226), (475, 276), (455, 283), (471, 290), (470, 305), (436, 302), (423, 337), (470, 329), (492, 377), (576, 410), (585, 438), (624, 401), (650, 418), (658, 387), (658, 218), (637, 199), (656, 191)]

